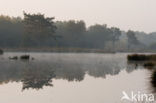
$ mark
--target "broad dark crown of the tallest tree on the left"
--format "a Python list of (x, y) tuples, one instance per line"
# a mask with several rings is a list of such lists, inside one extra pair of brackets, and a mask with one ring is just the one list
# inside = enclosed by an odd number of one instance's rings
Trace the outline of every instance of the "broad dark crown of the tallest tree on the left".
[(28, 14), (24, 12), (24, 38), (40, 44), (46, 38), (54, 37), (56, 26), (53, 20), (54, 17), (45, 17), (44, 14)]

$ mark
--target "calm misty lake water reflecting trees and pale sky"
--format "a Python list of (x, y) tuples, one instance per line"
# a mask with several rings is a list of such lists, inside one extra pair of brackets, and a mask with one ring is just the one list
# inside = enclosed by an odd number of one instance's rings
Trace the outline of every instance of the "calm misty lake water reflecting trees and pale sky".
[(127, 54), (29, 54), (35, 59), (0, 56), (0, 103), (121, 103), (122, 91), (153, 93), (151, 71)]

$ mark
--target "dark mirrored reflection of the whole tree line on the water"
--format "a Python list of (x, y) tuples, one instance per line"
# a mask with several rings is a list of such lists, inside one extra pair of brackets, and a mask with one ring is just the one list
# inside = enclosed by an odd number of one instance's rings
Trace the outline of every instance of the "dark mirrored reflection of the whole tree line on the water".
[[(31, 54), (32, 61), (9, 60), (7, 54), (0, 59), (0, 84), (22, 82), (22, 90), (42, 89), (53, 86), (53, 79), (82, 81), (85, 74), (106, 78), (117, 75), (123, 69), (132, 72), (138, 64), (127, 65), (126, 55), (86, 55), (86, 54)], [(134, 68), (135, 67), (135, 68)]]

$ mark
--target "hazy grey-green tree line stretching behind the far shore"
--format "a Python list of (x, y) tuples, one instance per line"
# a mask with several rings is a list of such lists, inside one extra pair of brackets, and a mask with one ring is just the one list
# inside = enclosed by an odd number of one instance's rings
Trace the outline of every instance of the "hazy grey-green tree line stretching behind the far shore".
[(0, 16), (1, 48), (87, 48), (106, 51), (156, 50), (156, 33), (121, 31), (106, 24), (91, 25), (84, 21), (54, 21), (43, 14), (24, 12), (24, 18)]

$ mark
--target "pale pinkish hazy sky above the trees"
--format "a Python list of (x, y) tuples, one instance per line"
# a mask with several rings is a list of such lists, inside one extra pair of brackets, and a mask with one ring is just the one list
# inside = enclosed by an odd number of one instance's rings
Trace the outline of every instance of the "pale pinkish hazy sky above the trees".
[(0, 14), (43, 13), (55, 20), (84, 20), (121, 30), (156, 31), (156, 0), (0, 0)]

